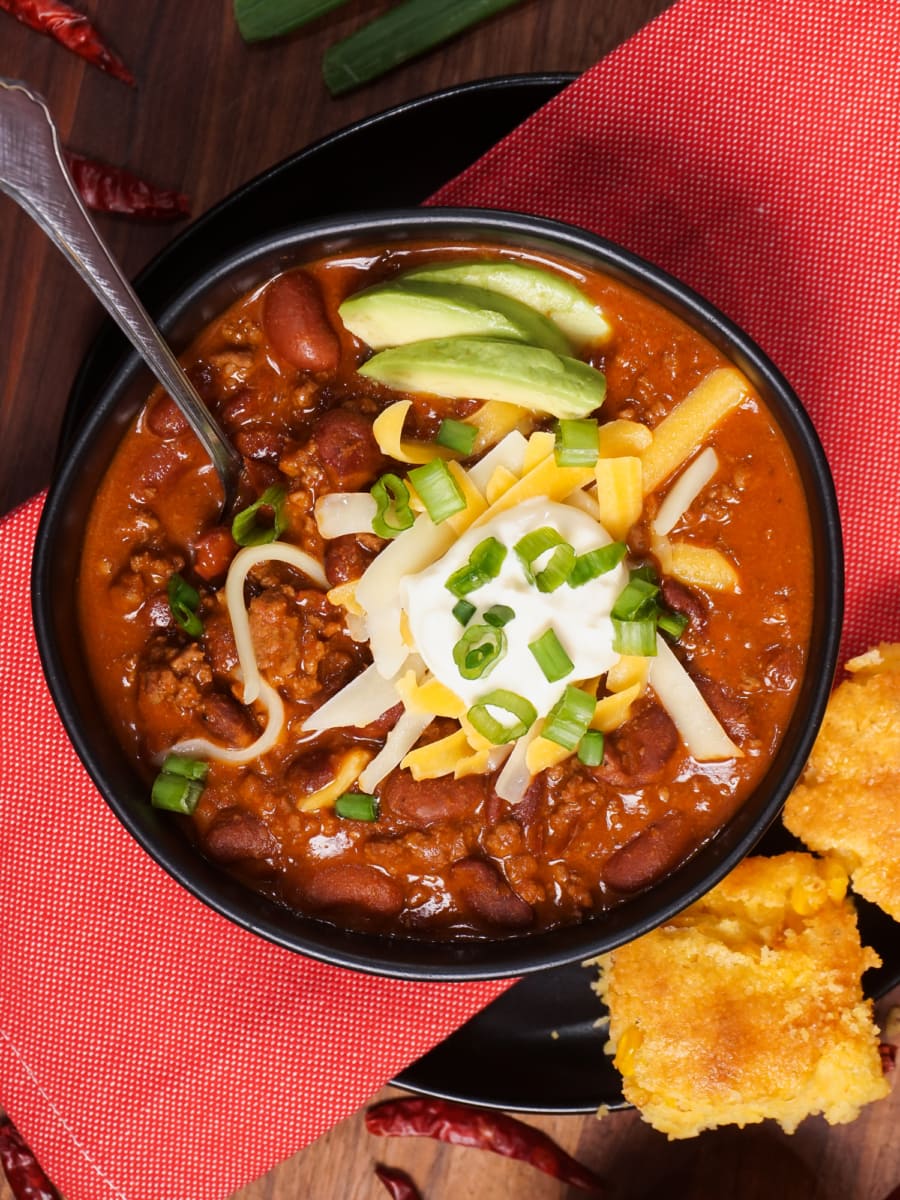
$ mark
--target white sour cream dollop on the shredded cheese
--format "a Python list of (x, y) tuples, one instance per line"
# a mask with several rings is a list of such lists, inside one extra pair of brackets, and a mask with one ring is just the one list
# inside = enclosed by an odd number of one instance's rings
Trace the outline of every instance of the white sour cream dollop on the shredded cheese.
[[(535, 498), (467, 529), (443, 558), (407, 576), (401, 584), (401, 602), (416, 652), (432, 674), (467, 706), (505, 688), (524, 696), (539, 716), (546, 716), (568, 684), (604, 674), (618, 659), (612, 648), (610, 611), (628, 582), (625, 568), (620, 564), (578, 588), (564, 583), (556, 592), (540, 592), (526, 577), (514, 547), (526, 534), (545, 526), (556, 529), (577, 554), (611, 541), (602, 526), (581, 509)], [(508, 605), (515, 617), (503, 630), (505, 655), (480, 679), (463, 679), (454, 661), (454, 646), (464, 629), (454, 617), (457, 598), (448, 590), (446, 581), (486, 538), (502, 542), (506, 557), (496, 578), (466, 596), (476, 608), (466, 629), (481, 623), (482, 613), (493, 605)], [(536, 564), (539, 569), (542, 565), (541, 560)], [(553, 630), (574, 664), (570, 674), (556, 683), (545, 677), (528, 648), (547, 629)]]

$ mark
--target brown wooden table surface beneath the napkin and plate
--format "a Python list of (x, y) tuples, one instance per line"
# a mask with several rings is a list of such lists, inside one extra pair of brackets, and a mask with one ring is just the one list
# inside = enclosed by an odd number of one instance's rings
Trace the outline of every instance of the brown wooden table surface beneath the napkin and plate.
[[(137, 91), (2, 14), (0, 76), (23, 78), (47, 97), (68, 145), (186, 191), (199, 215), (308, 142), (401, 101), (488, 76), (581, 71), (668, 2), (526, 0), (440, 52), (331, 100), (319, 76), (323, 49), (386, 0), (350, 0), (307, 31), (254, 48), (241, 44), (227, 0), (82, 0), (134, 68)], [(101, 226), (131, 274), (180, 228), (118, 218)], [(0, 197), (0, 512), (47, 484), (68, 389), (100, 319), (70, 268)], [(634, 1112), (601, 1122), (532, 1120), (617, 1181), (620, 1200), (881, 1200), (900, 1182), (900, 1090), (852, 1126), (811, 1120), (793, 1138), (764, 1126), (670, 1145)], [(234, 1200), (368, 1200), (385, 1194), (372, 1176), (376, 1160), (409, 1171), (427, 1200), (574, 1194), (494, 1156), (376, 1141), (358, 1114)], [(0, 1200), (11, 1200), (2, 1183)]]

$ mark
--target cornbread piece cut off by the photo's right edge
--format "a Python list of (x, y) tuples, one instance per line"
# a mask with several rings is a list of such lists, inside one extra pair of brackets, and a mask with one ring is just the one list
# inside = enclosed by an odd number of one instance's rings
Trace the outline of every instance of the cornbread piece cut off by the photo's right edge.
[(900, 920), (900, 646), (882, 643), (847, 671), (784, 821)]

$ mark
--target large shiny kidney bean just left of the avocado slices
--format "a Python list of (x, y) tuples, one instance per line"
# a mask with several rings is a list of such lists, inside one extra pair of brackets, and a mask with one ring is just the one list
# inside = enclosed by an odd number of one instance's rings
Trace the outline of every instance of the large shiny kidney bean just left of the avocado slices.
[(334, 371), (341, 343), (325, 316), (318, 284), (306, 271), (280, 275), (263, 296), (263, 325), (275, 353), (294, 367)]

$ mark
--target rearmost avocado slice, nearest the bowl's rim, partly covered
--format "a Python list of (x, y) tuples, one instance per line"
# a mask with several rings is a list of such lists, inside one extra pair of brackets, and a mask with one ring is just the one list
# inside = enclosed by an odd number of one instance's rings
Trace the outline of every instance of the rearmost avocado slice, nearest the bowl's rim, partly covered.
[(612, 326), (600, 307), (564, 276), (542, 266), (503, 258), (462, 259), (430, 263), (407, 271), (402, 278), (416, 283), (464, 283), (510, 296), (548, 317), (578, 348), (607, 342), (612, 336)]

